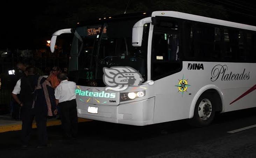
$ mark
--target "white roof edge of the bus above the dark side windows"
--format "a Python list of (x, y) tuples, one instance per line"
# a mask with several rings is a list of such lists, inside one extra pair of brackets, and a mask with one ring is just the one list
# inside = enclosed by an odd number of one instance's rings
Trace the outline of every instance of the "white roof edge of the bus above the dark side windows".
[(199, 22), (211, 23), (211, 24), (216, 24), (216, 25), (221, 25), (221, 26), (228, 26), (228, 27), (233, 27), (233, 28), (241, 28), (241, 29), (256, 31), (255, 26), (251, 26), (251, 25), (247, 25), (247, 24), (213, 19), (210, 17), (198, 16), (198, 15), (175, 12), (175, 11), (152, 12), (152, 17), (155, 17), (155, 16), (170, 16), (170, 17), (176, 17), (176, 18), (180, 18), (180, 19), (199, 21)]

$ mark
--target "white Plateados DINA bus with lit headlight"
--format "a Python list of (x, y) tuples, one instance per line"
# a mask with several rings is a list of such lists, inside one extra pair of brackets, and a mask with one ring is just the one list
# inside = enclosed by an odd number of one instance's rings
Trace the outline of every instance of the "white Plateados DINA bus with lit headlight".
[[(56, 31), (51, 51), (62, 33), (74, 34), (69, 77), (78, 85), (78, 117), (204, 126), (217, 112), (256, 105), (255, 26), (173, 11), (123, 14)], [(145, 82), (105, 91), (102, 68), (112, 66), (133, 67)]]

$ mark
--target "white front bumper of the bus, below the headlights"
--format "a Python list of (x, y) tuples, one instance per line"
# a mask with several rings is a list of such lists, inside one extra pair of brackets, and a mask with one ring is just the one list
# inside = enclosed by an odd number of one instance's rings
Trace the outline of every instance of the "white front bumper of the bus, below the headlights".
[[(114, 105), (77, 103), (78, 117), (130, 125), (153, 124), (155, 97)], [(88, 113), (88, 107), (98, 107), (98, 114)]]

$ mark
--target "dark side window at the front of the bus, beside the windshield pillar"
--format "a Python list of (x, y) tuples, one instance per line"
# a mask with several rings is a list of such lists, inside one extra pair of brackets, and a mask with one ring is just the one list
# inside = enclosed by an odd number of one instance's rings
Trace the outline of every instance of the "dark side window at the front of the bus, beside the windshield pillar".
[[(160, 26), (159, 26), (160, 25)], [(153, 80), (168, 76), (180, 70), (180, 40), (178, 24), (160, 22), (152, 38), (151, 76)]]

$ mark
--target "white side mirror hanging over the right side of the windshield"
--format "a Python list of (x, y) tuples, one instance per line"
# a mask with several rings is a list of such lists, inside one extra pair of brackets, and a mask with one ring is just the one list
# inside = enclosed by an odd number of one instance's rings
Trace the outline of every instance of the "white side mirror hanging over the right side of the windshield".
[(151, 17), (146, 17), (134, 24), (133, 38), (132, 38), (133, 46), (141, 46), (144, 24), (151, 23), (151, 22), (152, 22)]

